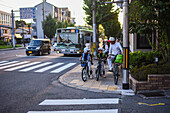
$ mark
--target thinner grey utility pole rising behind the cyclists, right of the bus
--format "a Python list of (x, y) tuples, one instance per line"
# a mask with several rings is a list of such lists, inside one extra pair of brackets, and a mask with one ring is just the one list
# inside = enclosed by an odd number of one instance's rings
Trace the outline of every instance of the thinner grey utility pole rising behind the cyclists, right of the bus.
[(96, 15), (96, 0), (93, 0), (93, 48), (94, 48), (94, 56), (97, 55), (97, 44), (96, 44), (96, 18), (95, 18), (95, 15)]

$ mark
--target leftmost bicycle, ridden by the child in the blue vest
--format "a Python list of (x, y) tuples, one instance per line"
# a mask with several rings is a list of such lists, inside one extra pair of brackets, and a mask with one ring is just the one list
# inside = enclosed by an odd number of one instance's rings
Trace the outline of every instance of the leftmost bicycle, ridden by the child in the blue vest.
[(82, 77), (82, 80), (85, 82), (87, 81), (87, 76), (90, 78), (88, 61), (81, 61), (81, 66), (83, 67), (81, 77)]

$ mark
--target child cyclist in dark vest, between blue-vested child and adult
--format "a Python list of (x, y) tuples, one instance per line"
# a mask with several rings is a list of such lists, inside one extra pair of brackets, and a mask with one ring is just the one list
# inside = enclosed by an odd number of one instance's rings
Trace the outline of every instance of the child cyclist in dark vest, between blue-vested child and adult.
[(98, 48), (97, 59), (101, 62), (101, 71), (103, 71), (103, 77), (106, 78), (104, 63), (106, 61), (106, 55), (103, 53), (103, 48)]

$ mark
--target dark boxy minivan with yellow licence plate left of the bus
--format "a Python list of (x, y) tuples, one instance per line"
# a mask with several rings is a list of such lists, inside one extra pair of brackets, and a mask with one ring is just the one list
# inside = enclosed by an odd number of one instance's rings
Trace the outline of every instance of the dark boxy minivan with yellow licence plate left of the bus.
[(49, 39), (32, 39), (29, 45), (26, 47), (26, 54), (38, 54), (51, 53), (51, 42)]

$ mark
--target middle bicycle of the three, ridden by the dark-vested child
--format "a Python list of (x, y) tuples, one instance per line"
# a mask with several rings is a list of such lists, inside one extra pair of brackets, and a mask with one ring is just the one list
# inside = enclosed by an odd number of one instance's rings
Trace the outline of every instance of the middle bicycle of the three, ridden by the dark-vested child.
[(105, 74), (105, 71), (104, 69), (102, 69), (102, 65), (101, 63), (103, 62), (104, 60), (98, 60), (98, 63), (97, 63), (97, 69), (96, 69), (96, 73), (95, 73), (95, 78), (96, 78), (96, 81), (99, 80), (99, 76), (102, 75), (102, 71), (103, 71), (103, 75)]

